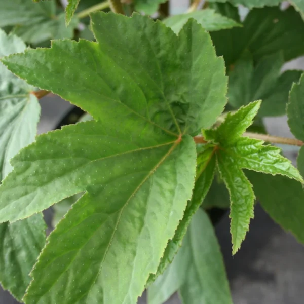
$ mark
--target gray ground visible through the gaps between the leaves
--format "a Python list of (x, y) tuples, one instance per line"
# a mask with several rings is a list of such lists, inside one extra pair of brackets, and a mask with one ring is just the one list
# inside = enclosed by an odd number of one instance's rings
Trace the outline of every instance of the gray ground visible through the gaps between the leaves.
[[(52, 130), (69, 108), (69, 103), (57, 97), (45, 97), (41, 105), (39, 133)], [(291, 136), (285, 118), (269, 119), (267, 127), (273, 135)], [(296, 151), (287, 151), (287, 154), (294, 159)], [(46, 214), (48, 222), (50, 217), (51, 212), (48, 212)], [(283, 232), (259, 206), (256, 207), (255, 218), (251, 222), (250, 232), (242, 249), (234, 257), (231, 255), (227, 215), (217, 224), (216, 233), (235, 304), (302, 304), (304, 302), (304, 246), (298, 244), (290, 234)], [(16, 303), (8, 292), (0, 291), (0, 304)], [(145, 295), (143, 295), (138, 304), (145, 303)], [(167, 303), (180, 302), (174, 295)]]

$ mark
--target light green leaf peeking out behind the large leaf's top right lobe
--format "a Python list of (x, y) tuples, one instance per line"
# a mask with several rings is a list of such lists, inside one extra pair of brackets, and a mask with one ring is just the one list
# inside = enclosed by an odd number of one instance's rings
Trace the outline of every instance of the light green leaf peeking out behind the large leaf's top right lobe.
[(240, 23), (237, 23), (233, 19), (222, 16), (211, 9), (205, 9), (181, 15), (174, 15), (164, 19), (163, 22), (167, 26), (171, 27), (175, 33), (178, 33), (189, 18), (194, 18), (207, 31), (242, 26)]

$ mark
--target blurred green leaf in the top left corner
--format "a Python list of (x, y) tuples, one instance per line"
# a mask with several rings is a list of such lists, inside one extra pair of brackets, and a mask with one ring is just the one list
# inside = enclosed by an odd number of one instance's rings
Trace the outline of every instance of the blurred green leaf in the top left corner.
[(78, 25), (77, 19), (73, 18), (70, 25), (65, 26), (63, 11), (56, 14), (55, 0), (39, 3), (29, 0), (0, 0), (0, 6), (0, 26), (16, 26), (14, 33), (31, 44), (72, 38), (73, 30)]

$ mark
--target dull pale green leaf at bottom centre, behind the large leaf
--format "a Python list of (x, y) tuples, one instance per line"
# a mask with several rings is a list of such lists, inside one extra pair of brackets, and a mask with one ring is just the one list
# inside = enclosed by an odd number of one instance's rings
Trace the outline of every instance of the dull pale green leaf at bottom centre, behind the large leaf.
[(232, 304), (220, 248), (208, 215), (193, 216), (174, 261), (148, 289), (148, 303), (161, 304), (179, 291), (183, 304)]

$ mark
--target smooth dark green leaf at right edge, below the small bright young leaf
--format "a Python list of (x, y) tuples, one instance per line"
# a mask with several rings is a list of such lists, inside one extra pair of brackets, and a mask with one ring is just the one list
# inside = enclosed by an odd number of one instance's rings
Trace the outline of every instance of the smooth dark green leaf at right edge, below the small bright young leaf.
[(263, 209), (298, 241), (304, 243), (304, 191), (302, 185), (285, 176), (246, 171)]

